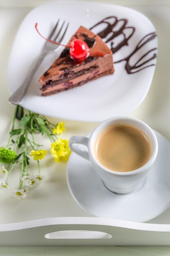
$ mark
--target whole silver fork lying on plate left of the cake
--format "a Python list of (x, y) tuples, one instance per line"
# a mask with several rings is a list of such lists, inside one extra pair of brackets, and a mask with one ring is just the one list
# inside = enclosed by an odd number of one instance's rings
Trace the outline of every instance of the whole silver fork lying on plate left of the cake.
[[(62, 40), (63, 40), (63, 38), (64, 38), (64, 36), (66, 34), (66, 31), (68, 29), (68, 25), (69, 25), (69, 22), (68, 22), (64, 32), (60, 36), (62, 28), (64, 27), (64, 23), (65, 23), (65, 21), (64, 21), (62, 23), (62, 26), (60, 27), (60, 29), (57, 31), (57, 35), (54, 36), (54, 34), (55, 34), (56, 30), (57, 30), (59, 21), (60, 21), (60, 19), (57, 21), (55, 27), (51, 31), (51, 34), (50, 34), (50, 36), (48, 38), (50, 40), (53, 40), (54, 42), (57, 40), (57, 43), (61, 43), (62, 42)], [(22, 85), (11, 95), (11, 97), (9, 97), (9, 102), (10, 103), (12, 103), (14, 105), (20, 105), (21, 104), (22, 98), (24, 97), (24, 95), (26, 94), (26, 91), (29, 88), (29, 85), (31, 83), (33, 75), (35, 74), (36, 70), (38, 69), (38, 67), (40, 66), (42, 61), (44, 60), (45, 56), (47, 54), (49, 54), (49, 53), (56, 52), (59, 46), (60, 45), (55, 45), (53, 43), (50, 43), (49, 41), (46, 41), (46, 43), (44, 44), (44, 47), (42, 49), (42, 53), (39, 56), (39, 58), (38, 58), (37, 62), (35, 63), (35, 65), (33, 66), (29, 76), (26, 77), (26, 79), (22, 83)]]

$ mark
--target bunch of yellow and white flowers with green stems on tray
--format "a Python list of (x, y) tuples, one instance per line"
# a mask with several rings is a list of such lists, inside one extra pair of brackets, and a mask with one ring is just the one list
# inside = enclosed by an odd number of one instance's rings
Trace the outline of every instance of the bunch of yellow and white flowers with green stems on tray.
[[(0, 147), (1, 176), (0, 189), (10, 189), (9, 176), (15, 168), (20, 168), (18, 187), (12, 191), (17, 198), (25, 198), (29, 189), (38, 185), (44, 178), (41, 175), (40, 161), (47, 150), (35, 141), (36, 133), (46, 135), (51, 142), (50, 153), (55, 162), (67, 161), (71, 153), (68, 140), (57, 137), (65, 130), (64, 123), (52, 124), (45, 116), (27, 111), (21, 106), (15, 107), (12, 128), (6, 147)], [(29, 162), (37, 162), (38, 173), (28, 171)]]

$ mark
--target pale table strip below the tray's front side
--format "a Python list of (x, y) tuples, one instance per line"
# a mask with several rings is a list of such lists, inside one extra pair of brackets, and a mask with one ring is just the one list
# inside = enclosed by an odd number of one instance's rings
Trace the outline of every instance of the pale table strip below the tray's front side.
[(166, 256), (169, 246), (0, 247), (0, 256)]

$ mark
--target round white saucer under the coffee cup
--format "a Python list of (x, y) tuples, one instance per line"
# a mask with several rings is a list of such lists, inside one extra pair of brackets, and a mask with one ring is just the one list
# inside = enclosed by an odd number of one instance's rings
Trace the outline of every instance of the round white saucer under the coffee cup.
[[(146, 222), (170, 206), (170, 142), (155, 131), (159, 150), (144, 186), (119, 195), (109, 191), (91, 162), (72, 153), (67, 166), (67, 183), (73, 198), (92, 216)], [(87, 136), (89, 137), (89, 135)]]

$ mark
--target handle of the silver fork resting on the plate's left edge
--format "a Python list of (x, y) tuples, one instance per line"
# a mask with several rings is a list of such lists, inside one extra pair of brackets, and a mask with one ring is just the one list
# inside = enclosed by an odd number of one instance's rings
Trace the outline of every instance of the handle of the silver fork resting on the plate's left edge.
[(40, 66), (40, 64), (42, 63), (42, 61), (44, 60), (44, 57), (46, 56), (46, 54), (42, 54), (37, 62), (34, 64), (29, 76), (26, 77), (25, 81), (22, 83), (22, 85), (11, 95), (11, 97), (9, 97), (9, 102), (14, 104), (14, 105), (20, 105), (22, 98), (24, 97), (24, 95), (26, 94), (29, 85), (31, 83), (31, 80), (33, 78), (33, 75), (35, 74), (35, 72), (37, 71), (38, 67)]

